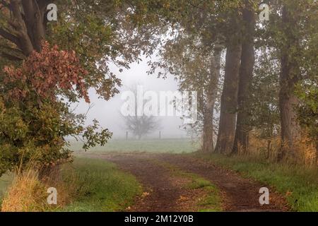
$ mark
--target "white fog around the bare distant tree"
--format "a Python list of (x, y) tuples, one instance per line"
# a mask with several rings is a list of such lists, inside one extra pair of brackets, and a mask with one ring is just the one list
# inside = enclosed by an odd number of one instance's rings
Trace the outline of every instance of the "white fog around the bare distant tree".
[[(159, 94), (160, 91), (176, 91), (177, 82), (173, 76), (168, 76), (167, 78), (157, 78), (155, 75), (148, 75), (148, 59), (143, 58), (139, 64), (134, 63), (130, 65), (130, 69), (124, 69), (122, 73), (116, 66), (110, 66), (113, 73), (117, 74), (117, 78), (122, 80), (122, 87), (119, 88), (120, 93), (112, 97), (110, 100), (106, 101), (98, 98), (95, 90), (90, 90), (90, 104), (87, 104), (83, 100), (76, 107), (77, 113), (86, 113), (87, 121), (86, 124), (91, 124), (93, 119), (98, 119), (100, 125), (103, 128), (110, 129), (113, 133), (113, 138), (124, 138), (126, 136), (126, 129), (124, 121), (122, 120), (122, 115), (120, 109), (124, 100), (121, 99), (122, 92), (124, 90), (129, 90), (131, 86), (136, 84), (143, 85), (143, 90), (155, 91)], [(93, 105), (89, 109), (89, 106)], [(179, 129), (182, 125), (182, 120), (176, 116), (170, 117), (158, 117), (161, 122), (161, 137), (162, 138), (186, 138), (187, 132)], [(158, 138), (159, 131), (154, 131), (148, 134), (144, 138)], [(129, 134), (129, 138), (132, 135)]]

